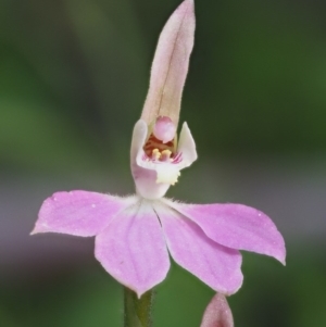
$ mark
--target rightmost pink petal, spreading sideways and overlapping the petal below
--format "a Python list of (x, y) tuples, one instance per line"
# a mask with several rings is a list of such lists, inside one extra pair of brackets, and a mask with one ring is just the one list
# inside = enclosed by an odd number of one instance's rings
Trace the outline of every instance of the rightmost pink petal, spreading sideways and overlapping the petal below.
[(283, 236), (264, 213), (242, 204), (183, 204), (166, 200), (222, 246), (274, 256), (285, 264)]

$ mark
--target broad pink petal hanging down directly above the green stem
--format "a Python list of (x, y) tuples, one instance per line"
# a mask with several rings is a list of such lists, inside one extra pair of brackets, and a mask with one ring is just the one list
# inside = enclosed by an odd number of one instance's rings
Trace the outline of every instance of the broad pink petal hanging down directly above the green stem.
[(151, 202), (139, 200), (96, 237), (96, 257), (138, 297), (161, 282), (170, 268), (160, 222)]

